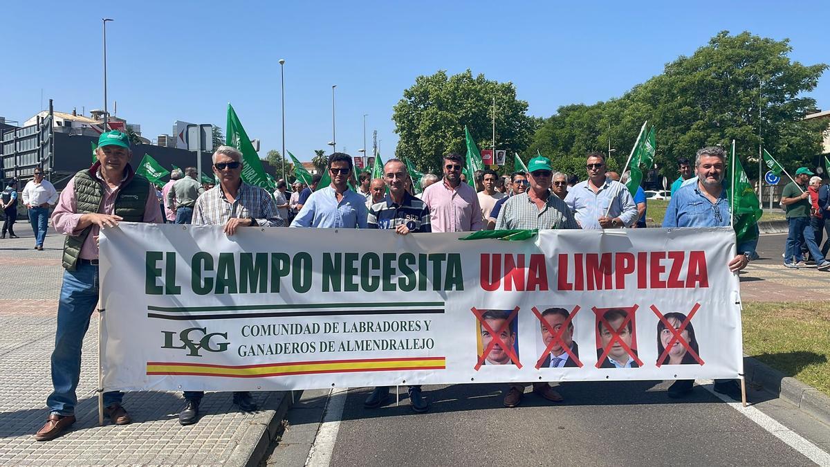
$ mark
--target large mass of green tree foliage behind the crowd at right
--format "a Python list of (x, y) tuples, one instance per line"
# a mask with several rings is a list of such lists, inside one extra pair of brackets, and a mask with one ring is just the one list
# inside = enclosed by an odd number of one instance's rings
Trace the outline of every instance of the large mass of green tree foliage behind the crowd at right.
[[(535, 131), (526, 152), (540, 150), (557, 169), (569, 170), (569, 158), (607, 151), (610, 138), (616, 149), (611, 160), (621, 170), (648, 120), (657, 130), (655, 163), (662, 175), (673, 179), (678, 158), (693, 159), (703, 146), (728, 147), (735, 139), (751, 179), (758, 177), (760, 125), (764, 147), (782, 165), (816, 166), (814, 155), (821, 152), (828, 123), (803, 120), (815, 107), (803, 94), (813, 91), (828, 66), (804, 66), (790, 60), (790, 52), (787, 39), (720, 32), (691, 57), (678, 57), (661, 75), (618, 99), (560, 107)], [(578, 175), (584, 177), (584, 169)]]

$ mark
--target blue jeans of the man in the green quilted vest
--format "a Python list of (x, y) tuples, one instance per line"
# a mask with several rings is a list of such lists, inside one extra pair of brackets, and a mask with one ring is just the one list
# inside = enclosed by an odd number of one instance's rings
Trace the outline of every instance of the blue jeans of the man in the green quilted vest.
[[(51, 355), (54, 391), (46, 399), (50, 413), (74, 415), (76, 389), (81, 378), (81, 345), (98, 303), (98, 266), (78, 262), (75, 271), (64, 271), (61, 302), (57, 306), (55, 350)], [(104, 406), (120, 404), (120, 391), (104, 393)]]

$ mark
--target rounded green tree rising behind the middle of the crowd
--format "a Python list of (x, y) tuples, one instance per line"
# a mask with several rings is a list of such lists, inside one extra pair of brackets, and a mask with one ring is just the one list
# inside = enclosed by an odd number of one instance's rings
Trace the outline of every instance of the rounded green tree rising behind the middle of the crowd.
[(467, 70), (454, 76), (437, 71), (418, 76), (403, 91), (392, 119), (400, 135), (397, 157), (407, 157), (423, 172), (441, 173), (442, 156), (466, 154), (464, 125), (479, 148), (492, 145), (493, 97), (496, 97), (496, 146), (508, 154), (530, 145), (536, 122), (527, 102), (516, 99), (513, 83), (486, 80)]

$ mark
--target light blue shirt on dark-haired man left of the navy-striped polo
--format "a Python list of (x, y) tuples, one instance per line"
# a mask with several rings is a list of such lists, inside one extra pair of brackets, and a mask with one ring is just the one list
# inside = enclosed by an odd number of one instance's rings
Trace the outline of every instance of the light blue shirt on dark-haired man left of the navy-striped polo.
[(369, 210), (363, 195), (346, 189), (343, 199), (338, 202), (334, 188), (327, 186), (311, 194), (291, 222), (291, 227), (366, 229), (367, 214)]

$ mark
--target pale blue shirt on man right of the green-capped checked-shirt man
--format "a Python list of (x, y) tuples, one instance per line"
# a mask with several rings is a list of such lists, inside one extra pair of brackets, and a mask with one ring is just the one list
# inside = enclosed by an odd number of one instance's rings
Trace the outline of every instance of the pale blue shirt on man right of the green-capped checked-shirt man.
[(608, 211), (608, 217), (620, 218), (623, 225), (630, 227), (637, 217), (637, 204), (624, 184), (605, 177), (605, 183), (597, 193), (588, 186), (590, 180), (585, 180), (569, 189), (565, 196), (565, 204), (574, 211), (574, 217), (583, 229), (602, 229), (599, 218)]

